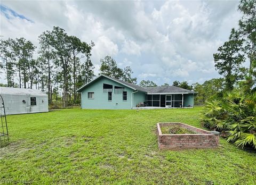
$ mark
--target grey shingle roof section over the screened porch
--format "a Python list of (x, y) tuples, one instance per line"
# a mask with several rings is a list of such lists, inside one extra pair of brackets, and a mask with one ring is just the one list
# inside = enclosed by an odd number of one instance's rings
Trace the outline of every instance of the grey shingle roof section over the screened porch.
[(195, 93), (194, 91), (175, 86), (145, 87), (148, 93)]

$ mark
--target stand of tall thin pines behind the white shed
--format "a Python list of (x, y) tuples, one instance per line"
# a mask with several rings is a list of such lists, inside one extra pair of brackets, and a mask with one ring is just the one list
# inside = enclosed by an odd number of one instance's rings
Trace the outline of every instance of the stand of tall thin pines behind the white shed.
[(69, 36), (59, 27), (43, 32), (38, 40), (38, 48), (25, 38), (0, 41), (6, 86), (42, 90), (50, 103), (54, 95), (64, 107), (78, 103), (76, 90), (95, 77), (90, 58), (94, 43)]

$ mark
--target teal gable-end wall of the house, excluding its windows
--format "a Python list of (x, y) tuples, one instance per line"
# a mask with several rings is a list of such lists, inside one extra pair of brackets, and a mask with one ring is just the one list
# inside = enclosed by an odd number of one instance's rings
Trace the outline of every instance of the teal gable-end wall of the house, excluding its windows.
[[(103, 93), (103, 83), (113, 85), (112, 100), (108, 101), (108, 93)], [(123, 94), (115, 94), (114, 86), (124, 87), (127, 91), (127, 100), (123, 101)], [(107, 78), (100, 78), (89, 86), (85, 87), (81, 94), (81, 108), (89, 109), (131, 109), (131, 94), (133, 89), (121, 85)], [(94, 93), (94, 99), (88, 99), (88, 93)], [(142, 96), (143, 94), (143, 96)], [(143, 97), (143, 98), (142, 98)], [(133, 106), (139, 102), (145, 102), (145, 93), (138, 92), (133, 94)]]

